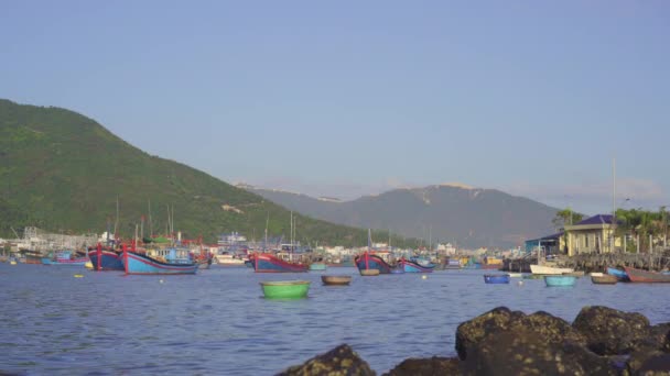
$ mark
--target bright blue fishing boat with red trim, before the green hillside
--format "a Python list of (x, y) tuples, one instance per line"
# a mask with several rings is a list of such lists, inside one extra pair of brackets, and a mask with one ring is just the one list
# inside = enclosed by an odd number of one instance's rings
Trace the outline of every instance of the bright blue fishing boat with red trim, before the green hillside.
[[(181, 252), (180, 252), (181, 251)], [(171, 274), (195, 274), (198, 264), (184, 257), (180, 253), (183, 250), (168, 250), (165, 261), (161, 261), (147, 254), (128, 251), (123, 245), (123, 267), (126, 274), (142, 274), (142, 275), (171, 275)]]

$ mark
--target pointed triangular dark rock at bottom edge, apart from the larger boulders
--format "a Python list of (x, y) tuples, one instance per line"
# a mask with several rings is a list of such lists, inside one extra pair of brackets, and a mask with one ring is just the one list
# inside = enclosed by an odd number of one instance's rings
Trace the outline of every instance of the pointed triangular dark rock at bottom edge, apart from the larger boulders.
[(302, 365), (289, 367), (278, 375), (374, 376), (375, 372), (370, 369), (367, 362), (358, 357), (358, 354), (352, 347), (342, 344), (325, 354), (306, 361)]

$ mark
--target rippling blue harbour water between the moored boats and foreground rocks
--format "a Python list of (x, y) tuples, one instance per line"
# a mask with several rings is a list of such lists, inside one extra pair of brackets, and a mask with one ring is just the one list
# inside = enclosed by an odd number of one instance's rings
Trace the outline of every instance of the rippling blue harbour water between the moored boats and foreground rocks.
[[(452, 356), (456, 327), (498, 306), (572, 321), (586, 305), (670, 321), (670, 285), (542, 279), (486, 285), (476, 270), (360, 277), (323, 286), (324, 272), (123, 276), (76, 266), (0, 264), (0, 372), (271, 375), (348, 343), (377, 372), (407, 357)], [(84, 278), (74, 278), (84, 274)], [(259, 281), (306, 279), (307, 299), (266, 300)], [(162, 283), (161, 283), (162, 280)]]

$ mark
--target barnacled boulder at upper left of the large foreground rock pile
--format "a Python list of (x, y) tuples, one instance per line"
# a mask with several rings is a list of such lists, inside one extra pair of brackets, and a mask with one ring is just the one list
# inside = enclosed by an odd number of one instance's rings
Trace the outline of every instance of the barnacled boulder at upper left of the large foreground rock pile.
[(542, 341), (552, 344), (564, 342), (586, 344), (586, 339), (563, 319), (542, 311), (526, 316), (523, 312), (512, 312), (506, 307), (499, 307), (458, 325), (456, 351), (461, 360), (465, 361), (467, 349), (477, 345), (488, 335), (496, 335), (495, 333), (499, 331), (516, 332), (526, 329), (534, 332)]

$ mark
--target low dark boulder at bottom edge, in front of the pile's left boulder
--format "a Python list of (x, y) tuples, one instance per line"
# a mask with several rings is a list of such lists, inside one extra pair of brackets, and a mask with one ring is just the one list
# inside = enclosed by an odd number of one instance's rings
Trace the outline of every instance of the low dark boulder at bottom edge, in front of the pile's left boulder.
[(618, 375), (606, 357), (573, 343), (551, 343), (533, 329), (498, 331), (467, 350), (465, 375)]

